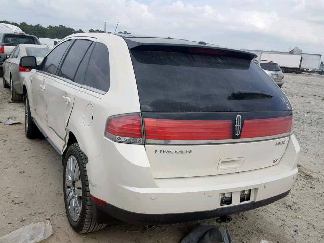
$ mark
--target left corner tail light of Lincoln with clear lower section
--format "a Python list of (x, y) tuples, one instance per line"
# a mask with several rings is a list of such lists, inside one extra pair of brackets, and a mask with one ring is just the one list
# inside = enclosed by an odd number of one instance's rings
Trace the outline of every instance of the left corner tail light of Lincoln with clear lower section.
[(142, 143), (140, 115), (110, 117), (107, 121), (105, 136), (116, 142)]

